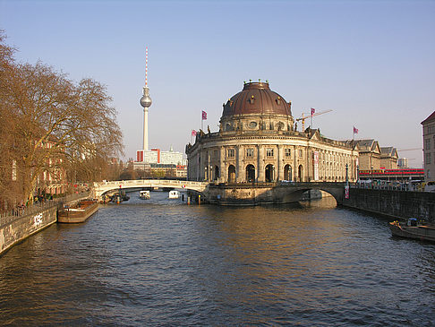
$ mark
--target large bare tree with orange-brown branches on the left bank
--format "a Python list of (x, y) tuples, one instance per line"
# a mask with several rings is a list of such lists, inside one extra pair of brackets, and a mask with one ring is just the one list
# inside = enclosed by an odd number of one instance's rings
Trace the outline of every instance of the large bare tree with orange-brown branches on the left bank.
[(30, 199), (42, 176), (55, 176), (60, 169), (97, 180), (98, 166), (123, 150), (106, 87), (90, 78), (74, 84), (40, 62), (15, 64), (10, 51), (0, 55), (2, 63), (12, 63), (0, 76), (2, 137), (9, 137), (11, 151), (5, 166), (16, 160), (21, 193)]

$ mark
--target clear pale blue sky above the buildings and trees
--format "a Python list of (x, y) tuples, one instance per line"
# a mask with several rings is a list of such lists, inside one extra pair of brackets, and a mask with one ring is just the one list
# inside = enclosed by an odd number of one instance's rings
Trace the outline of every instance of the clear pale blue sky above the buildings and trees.
[(355, 126), (355, 139), (394, 146), (422, 167), (420, 123), (435, 110), (435, 1), (0, 0), (0, 29), (17, 61), (107, 86), (125, 159), (142, 148), (149, 47), (150, 148), (184, 152), (202, 110), (204, 130), (218, 131), (222, 104), (261, 79), (292, 101), (294, 118), (332, 110), (313, 117), (323, 135), (352, 139)]

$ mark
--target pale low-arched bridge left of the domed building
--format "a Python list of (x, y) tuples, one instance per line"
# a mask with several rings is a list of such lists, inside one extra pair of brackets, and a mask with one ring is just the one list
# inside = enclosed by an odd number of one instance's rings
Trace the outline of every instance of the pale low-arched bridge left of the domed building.
[(208, 182), (193, 182), (177, 179), (136, 179), (113, 182), (96, 182), (94, 183), (94, 197), (100, 198), (101, 195), (118, 191), (119, 189), (141, 189), (145, 187), (168, 187), (183, 190), (191, 190), (204, 193), (209, 186)]

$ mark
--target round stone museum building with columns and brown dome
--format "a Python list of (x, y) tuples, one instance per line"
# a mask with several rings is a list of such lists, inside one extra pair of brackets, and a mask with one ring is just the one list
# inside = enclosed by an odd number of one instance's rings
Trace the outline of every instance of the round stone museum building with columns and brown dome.
[(186, 146), (188, 178), (217, 183), (356, 180), (356, 142), (294, 128), (291, 102), (269, 82), (245, 82), (223, 105), (219, 131), (197, 133)]

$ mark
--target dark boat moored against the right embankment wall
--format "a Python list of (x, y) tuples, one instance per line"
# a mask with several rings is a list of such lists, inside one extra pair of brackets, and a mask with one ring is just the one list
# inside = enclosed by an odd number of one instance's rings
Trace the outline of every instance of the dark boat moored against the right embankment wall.
[(391, 234), (397, 237), (420, 239), (435, 242), (435, 226), (419, 223), (418, 219), (410, 218), (406, 223), (397, 220), (389, 223)]

